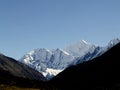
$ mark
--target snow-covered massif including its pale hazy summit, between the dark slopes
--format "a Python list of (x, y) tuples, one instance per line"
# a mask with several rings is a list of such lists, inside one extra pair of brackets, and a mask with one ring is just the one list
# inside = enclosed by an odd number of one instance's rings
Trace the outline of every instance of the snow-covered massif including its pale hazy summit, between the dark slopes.
[(94, 51), (95, 45), (85, 40), (67, 46), (65, 49), (34, 49), (21, 58), (21, 61), (50, 78), (67, 68), (77, 57)]

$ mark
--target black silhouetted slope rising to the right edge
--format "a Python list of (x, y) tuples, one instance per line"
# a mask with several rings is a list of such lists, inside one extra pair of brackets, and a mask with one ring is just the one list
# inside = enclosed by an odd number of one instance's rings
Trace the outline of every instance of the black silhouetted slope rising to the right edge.
[(99, 57), (65, 69), (49, 84), (60, 90), (119, 90), (120, 43)]

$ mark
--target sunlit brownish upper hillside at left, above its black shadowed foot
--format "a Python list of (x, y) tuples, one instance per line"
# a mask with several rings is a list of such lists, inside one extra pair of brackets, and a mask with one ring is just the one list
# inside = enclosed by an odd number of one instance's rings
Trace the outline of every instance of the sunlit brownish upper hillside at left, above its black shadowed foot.
[(10, 57), (0, 54), (0, 77), (7, 75), (13, 77), (27, 78), (31, 80), (46, 80), (45, 77), (38, 71), (35, 71), (27, 65), (18, 62)]

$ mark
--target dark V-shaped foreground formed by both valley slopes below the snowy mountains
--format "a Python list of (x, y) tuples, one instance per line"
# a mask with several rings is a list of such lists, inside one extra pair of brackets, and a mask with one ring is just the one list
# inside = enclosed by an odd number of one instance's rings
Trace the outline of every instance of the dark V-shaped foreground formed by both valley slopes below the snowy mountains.
[(0, 55), (1, 85), (32, 90), (120, 90), (120, 43), (100, 57), (65, 69), (50, 81), (32, 68)]

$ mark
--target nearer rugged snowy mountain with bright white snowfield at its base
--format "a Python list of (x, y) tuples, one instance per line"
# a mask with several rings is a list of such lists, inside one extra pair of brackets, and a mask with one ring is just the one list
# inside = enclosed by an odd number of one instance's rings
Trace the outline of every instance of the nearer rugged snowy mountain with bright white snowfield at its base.
[(69, 65), (74, 58), (61, 49), (35, 49), (24, 55), (21, 62), (38, 70), (46, 77), (52, 77)]

